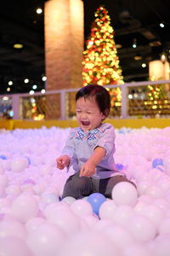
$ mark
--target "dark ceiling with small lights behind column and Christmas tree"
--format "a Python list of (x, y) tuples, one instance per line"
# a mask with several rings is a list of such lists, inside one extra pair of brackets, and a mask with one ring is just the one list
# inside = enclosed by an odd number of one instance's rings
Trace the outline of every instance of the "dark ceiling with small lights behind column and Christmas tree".
[[(62, 1), (62, 0), (61, 0)], [(115, 30), (116, 44), (125, 82), (148, 79), (148, 62), (160, 58), (162, 52), (170, 59), (169, 0), (84, 0), (84, 38), (88, 38), (94, 12), (105, 5)], [(20, 93), (44, 88), (45, 74), (43, 13), (37, 7), (44, 0), (3, 1), (0, 9), (0, 94)], [(160, 23), (164, 22), (161, 28)], [(137, 47), (132, 47), (136, 41)], [(14, 49), (14, 43), (24, 45)], [(134, 60), (139, 55), (140, 60)], [(146, 67), (141, 67), (146, 63)], [(30, 79), (28, 84), (24, 79)], [(8, 81), (13, 81), (8, 85)]]

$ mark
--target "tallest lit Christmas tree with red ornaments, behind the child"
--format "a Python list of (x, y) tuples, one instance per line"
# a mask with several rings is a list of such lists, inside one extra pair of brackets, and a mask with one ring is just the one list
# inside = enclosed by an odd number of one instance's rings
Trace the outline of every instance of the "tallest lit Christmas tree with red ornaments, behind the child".
[[(114, 34), (108, 11), (99, 7), (95, 12), (90, 37), (86, 41), (86, 50), (83, 52), (83, 85), (123, 84)], [(111, 106), (121, 101), (120, 88), (110, 89), (110, 94)]]

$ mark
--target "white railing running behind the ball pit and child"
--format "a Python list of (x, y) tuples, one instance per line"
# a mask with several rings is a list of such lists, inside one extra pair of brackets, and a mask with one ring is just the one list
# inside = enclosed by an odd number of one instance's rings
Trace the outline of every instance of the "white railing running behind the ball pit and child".
[[(134, 83), (126, 83), (126, 84), (110, 84), (110, 85), (105, 85), (106, 88), (117, 88), (119, 87), (122, 92), (122, 99), (120, 102), (120, 114), (118, 115), (118, 118), (122, 119), (127, 119), (129, 118), (128, 114), (128, 105), (131, 99), (129, 99), (129, 90), (132, 90), (132, 88), (138, 88), (138, 87), (147, 87), (148, 85), (156, 86), (157, 84), (161, 85), (167, 85), (167, 98), (165, 99), (168, 104), (170, 102), (170, 80), (159, 80), (159, 81), (144, 81), (144, 82), (134, 82)], [(0, 112), (2, 112), (2, 109), (8, 109), (9, 107), (12, 108), (14, 116), (13, 119), (32, 119), (32, 118), (27, 118), (25, 116), (25, 110), (24, 110), (24, 105), (23, 102), (27, 99), (28, 101), (30, 99), (35, 99), (37, 97), (46, 97), (48, 96), (57, 96), (59, 95), (59, 102), (57, 101), (56, 104), (58, 104), (57, 109), (59, 109), (59, 116), (57, 117), (58, 119), (68, 119), (69, 116), (67, 114), (68, 112), (68, 94), (71, 92), (77, 92), (80, 88), (76, 89), (63, 89), (63, 90), (49, 90), (46, 91), (45, 93), (41, 92), (35, 92), (33, 95), (30, 95), (29, 93), (22, 93), (22, 94), (8, 94), (8, 95), (0, 95)], [(135, 99), (134, 99), (135, 102)], [(52, 105), (54, 102), (52, 103)], [(168, 105), (167, 104), (167, 105)], [(46, 111), (48, 112), (48, 106), (46, 106)], [(169, 105), (168, 105), (169, 106)], [(40, 106), (41, 107), (41, 106)], [(54, 106), (52, 106), (54, 107)], [(51, 106), (50, 106), (51, 108)], [(55, 108), (55, 109), (56, 109)], [(141, 107), (142, 108), (142, 107)], [(162, 107), (164, 108), (164, 107)], [(168, 112), (169, 108), (169, 112)], [(167, 108), (167, 116), (170, 116), (170, 106)], [(51, 110), (50, 110), (51, 111)], [(55, 119), (56, 117), (54, 117)]]

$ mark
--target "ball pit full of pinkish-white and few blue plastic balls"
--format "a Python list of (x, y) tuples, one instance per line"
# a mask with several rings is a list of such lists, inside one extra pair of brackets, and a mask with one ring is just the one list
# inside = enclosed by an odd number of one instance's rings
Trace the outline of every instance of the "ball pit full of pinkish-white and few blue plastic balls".
[[(0, 131), (0, 252), (5, 256), (169, 256), (170, 127), (116, 130), (119, 183), (60, 200), (56, 158), (70, 128)], [(10, 247), (8, 246), (10, 244)]]

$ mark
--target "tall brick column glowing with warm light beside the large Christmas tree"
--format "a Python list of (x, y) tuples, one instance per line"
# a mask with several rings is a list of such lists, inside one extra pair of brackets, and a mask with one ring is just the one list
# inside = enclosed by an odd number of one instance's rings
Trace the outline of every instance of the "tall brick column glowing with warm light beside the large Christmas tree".
[(82, 87), (82, 0), (45, 3), (47, 90)]

